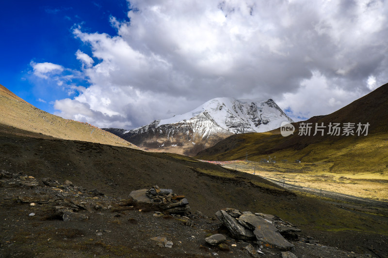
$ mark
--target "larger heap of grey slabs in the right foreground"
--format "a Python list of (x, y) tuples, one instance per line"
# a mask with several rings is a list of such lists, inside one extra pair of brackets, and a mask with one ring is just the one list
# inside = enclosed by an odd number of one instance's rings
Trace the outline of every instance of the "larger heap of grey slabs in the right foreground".
[(283, 236), (297, 238), (295, 232), (301, 231), (291, 223), (277, 216), (263, 213), (240, 212), (226, 208), (215, 213), (217, 218), (228, 228), (230, 234), (241, 240), (253, 240), (268, 247), (289, 250), (293, 244)]

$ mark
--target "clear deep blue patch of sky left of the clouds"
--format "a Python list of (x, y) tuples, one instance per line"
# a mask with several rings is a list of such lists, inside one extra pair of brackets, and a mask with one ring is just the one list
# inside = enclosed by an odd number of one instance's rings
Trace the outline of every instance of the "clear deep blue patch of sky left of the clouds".
[[(85, 31), (114, 35), (110, 17), (125, 19), (127, 12), (126, 0), (1, 1), (0, 84), (33, 106), (54, 113), (50, 102), (68, 93), (55, 82), (33, 76), (31, 62), (80, 69), (75, 53), (78, 49), (88, 53), (90, 48), (74, 37), (72, 28), (81, 24)], [(85, 79), (75, 82), (89, 85)]]

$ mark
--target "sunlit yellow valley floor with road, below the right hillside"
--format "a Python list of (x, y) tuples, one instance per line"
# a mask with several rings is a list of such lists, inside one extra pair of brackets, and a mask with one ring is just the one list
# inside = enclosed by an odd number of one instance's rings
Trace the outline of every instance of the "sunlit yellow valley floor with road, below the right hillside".
[[(280, 182), (286, 187), (297, 186), (300, 190), (307, 190), (315, 194), (317, 191), (325, 193), (335, 192), (354, 197), (388, 201), (388, 178), (379, 173), (339, 174), (330, 173), (327, 169), (320, 170), (326, 164), (265, 164), (254, 161), (239, 161), (223, 165), (229, 169), (237, 169), (263, 178)], [(298, 190), (295, 188), (295, 190)]]

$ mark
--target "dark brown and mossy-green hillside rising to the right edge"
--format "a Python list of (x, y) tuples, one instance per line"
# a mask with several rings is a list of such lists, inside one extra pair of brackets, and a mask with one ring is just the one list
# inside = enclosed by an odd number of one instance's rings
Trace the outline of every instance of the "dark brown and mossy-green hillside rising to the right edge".
[[(299, 136), (301, 123), (312, 123), (311, 134)], [(388, 175), (388, 84), (344, 106), (338, 111), (293, 123), (293, 135), (283, 137), (280, 129), (266, 133), (234, 135), (219, 142), (212, 148), (199, 152), (196, 158), (207, 160), (248, 159), (259, 161), (276, 156), (276, 160), (289, 162), (300, 159), (302, 162), (322, 162), (328, 165), (329, 172), (380, 173)], [(355, 135), (328, 135), (329, 123), (369, 123), (368, 135), (365, 132)], [(324, 134), (313, 136), (315, 123), (326, 126)], [(356, 126), (357, 127), (357, 126)]]

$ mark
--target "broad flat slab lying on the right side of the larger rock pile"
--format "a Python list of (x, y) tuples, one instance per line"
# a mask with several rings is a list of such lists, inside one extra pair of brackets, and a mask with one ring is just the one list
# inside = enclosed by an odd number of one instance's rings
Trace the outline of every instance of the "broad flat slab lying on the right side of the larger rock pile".
[(244, 227), (253, 229), (258, 241), (268, 243), (282, 250), (288, 250), (294, 245), (288, 242), (282, 235), (276, 232), (275, 226), (260, 216), (242, 214), (239, 223)]

